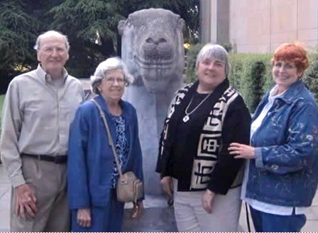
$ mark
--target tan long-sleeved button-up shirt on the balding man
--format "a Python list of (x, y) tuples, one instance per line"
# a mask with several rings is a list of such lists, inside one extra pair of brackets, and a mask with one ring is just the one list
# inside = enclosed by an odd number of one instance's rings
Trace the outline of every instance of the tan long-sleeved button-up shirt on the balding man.
[(67, 74), (53, 84), (38, 65), (16, 76), (6, 92), (2, 112), (1, 160), (13, 187), (23, 178), (21, 154), (67, 154), (70, 123), (75, 110), (84, 100), (79, 80)]

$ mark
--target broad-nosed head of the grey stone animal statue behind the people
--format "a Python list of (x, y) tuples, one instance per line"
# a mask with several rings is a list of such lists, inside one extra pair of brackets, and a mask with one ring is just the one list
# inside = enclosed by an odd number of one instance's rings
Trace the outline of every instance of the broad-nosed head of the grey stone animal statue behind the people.
[(162, 9), (132, 13), (124, 24), (122, 57), (150, 92), (165, 91), (184, 69), (179, 16)]

